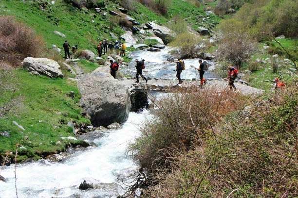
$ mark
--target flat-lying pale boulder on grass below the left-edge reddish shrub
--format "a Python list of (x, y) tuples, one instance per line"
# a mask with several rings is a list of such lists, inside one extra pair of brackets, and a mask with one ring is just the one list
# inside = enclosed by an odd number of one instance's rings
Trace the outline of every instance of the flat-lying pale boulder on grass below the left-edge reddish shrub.
[(63, 77), (59, 64), (47, 58), (25, 58), (22, 62), (23, 68), (35, 75), (47, 76), (49, 78)]

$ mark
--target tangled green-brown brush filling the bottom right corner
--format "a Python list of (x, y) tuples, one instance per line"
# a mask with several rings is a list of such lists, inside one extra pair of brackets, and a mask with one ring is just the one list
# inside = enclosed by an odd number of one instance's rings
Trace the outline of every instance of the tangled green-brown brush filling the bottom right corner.
[(217, 137), (168, 158), (171, 169), (156, 173), (144, 197), (226, 198), (234, 189), (233, 197), (297, 197), (298, 88), (267, 97), (226, 116)]

